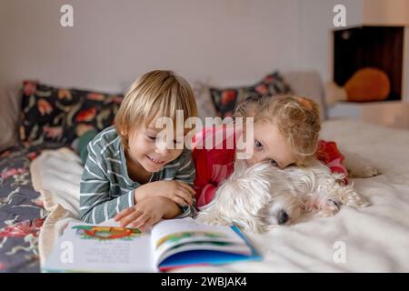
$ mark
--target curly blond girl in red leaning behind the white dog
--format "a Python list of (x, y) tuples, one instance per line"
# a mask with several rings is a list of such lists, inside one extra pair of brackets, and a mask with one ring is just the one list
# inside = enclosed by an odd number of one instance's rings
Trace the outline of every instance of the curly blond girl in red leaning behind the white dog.
[[(253, 146), (253, 155), (246, 159), (247, 165), (269, 161), (273, 166), (284, 169), (287, 166), (307, 166), (318, 158), (333, 172), (347, 175), (341, 164), (344, 160), (334, 142), (319, 140), (320, 114), (318, 105), (311, 99), (296, 95), (274, 97), (254, 95), (236, 106), (234, 118), (254, 118), (254, 138), (248, 143)], [(214, 148), (199, 148), (207, 138), (220, 135), (228, 138), (230, 125), (205, 127), (194, 137), (193, 151), (196, 178), (195, 191), (197, 206), (205, 206), (214, 197), (217, 187), (234, 171), (234, 160), (239, 149), (236, 140), (242, 132), (234, 133), (234, 146), (215, 145)], [(226, 140), (223, 145), (227, 145)], [(203, 146), (200, 146), (203, 147)], [(247, 151), (248, 152), (248, 151)], [(345, 180), (346, 182), (346, 180)]]

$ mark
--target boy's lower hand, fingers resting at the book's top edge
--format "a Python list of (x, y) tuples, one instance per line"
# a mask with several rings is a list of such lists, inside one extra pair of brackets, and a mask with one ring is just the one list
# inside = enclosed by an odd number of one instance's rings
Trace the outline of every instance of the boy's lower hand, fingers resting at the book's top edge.
[(124, 209), (114, 219), (120, 222), (121, 227), (129, 225), (128, 227), (146, 230), (171, 211), (171, 204), (172, 202), (164, 197), (148, 197), (137, 205)]

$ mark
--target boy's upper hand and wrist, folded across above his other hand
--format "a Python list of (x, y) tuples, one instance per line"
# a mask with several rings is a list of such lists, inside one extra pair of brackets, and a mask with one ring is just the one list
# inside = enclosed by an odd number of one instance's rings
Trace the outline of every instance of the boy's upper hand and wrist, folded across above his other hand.
[(134, 196), (135, 203), (141, 203), (146, 197), (162, 196), (179, 206), (192, 206), (195, 189), (180, 181), (155, 181), (137, 187)]

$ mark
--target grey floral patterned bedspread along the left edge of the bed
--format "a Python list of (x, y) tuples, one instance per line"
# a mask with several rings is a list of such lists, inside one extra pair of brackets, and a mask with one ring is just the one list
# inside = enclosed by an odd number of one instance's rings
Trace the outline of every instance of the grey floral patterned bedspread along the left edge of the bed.
[(31, 183), (30, 164), (45, 148), (0, 153), (0, 272), (39, 272), (38, 235), (47, 212)]

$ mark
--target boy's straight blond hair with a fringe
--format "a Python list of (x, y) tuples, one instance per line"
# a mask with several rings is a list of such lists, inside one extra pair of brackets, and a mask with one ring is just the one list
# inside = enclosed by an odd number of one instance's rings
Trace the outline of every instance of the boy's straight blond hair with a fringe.
[(165, 70), (141, 75), (129, 87), (115, 115), (115, 128), (123, 146), (128, 148), (131, 131), (149, 125), (154, 118), (170, 117), (176, 125), (176, 110), (184, 111), (184, 122), (197, 116), (195, 95), (185, 79)]

